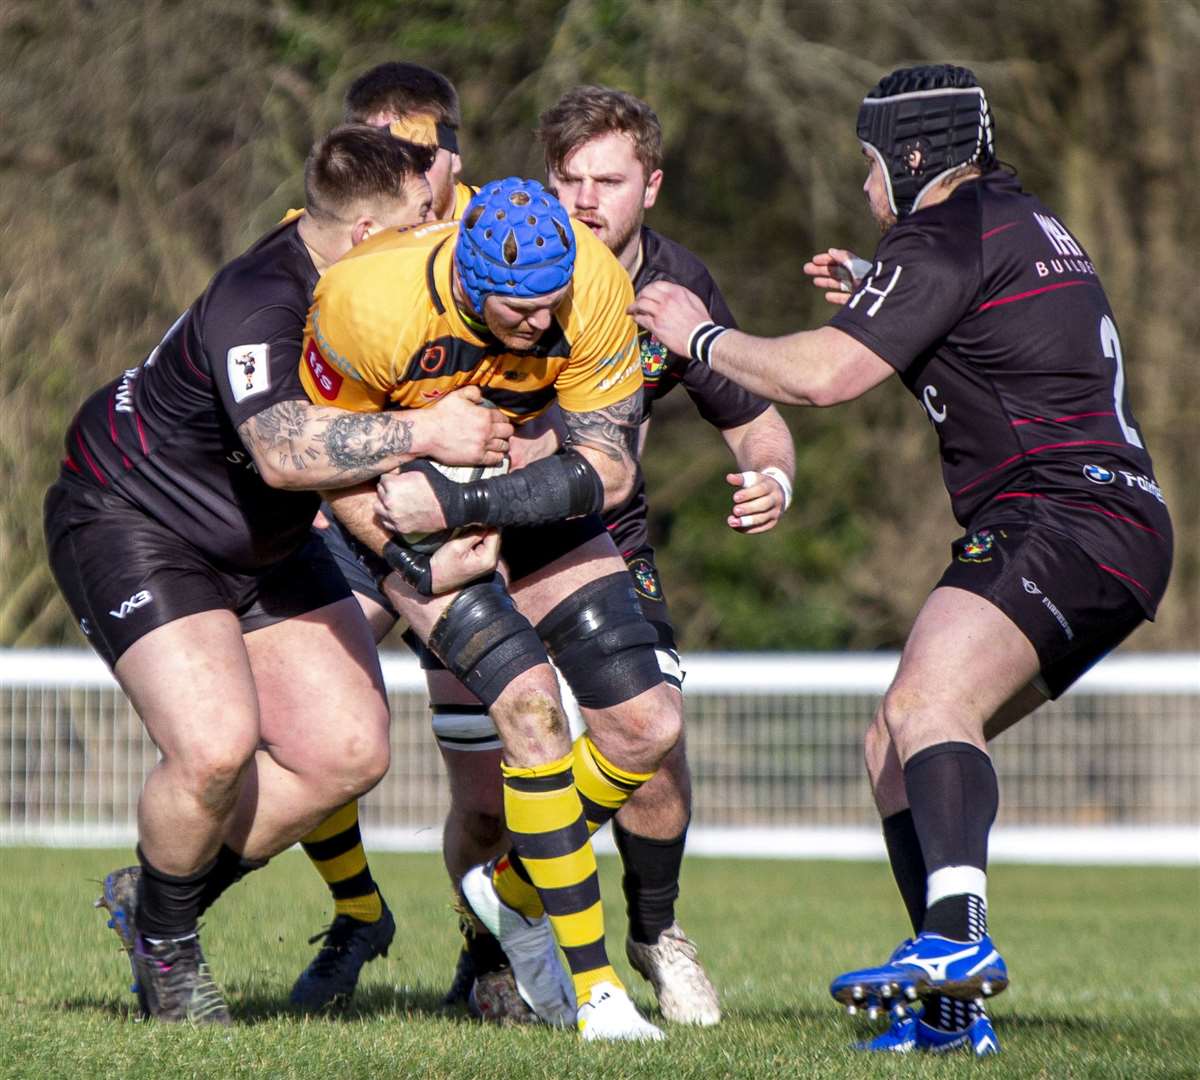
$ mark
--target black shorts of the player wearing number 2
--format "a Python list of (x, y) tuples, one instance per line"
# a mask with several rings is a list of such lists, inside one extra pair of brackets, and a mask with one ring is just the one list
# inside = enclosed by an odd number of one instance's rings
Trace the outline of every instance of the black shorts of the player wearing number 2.
[(1062, 533), (983, 526), (955, 540), (950, 554), (938, 587), (966, 589), (1004, 612), (1037, 650), (1051, 700), (1146, 618), (1133, 594)]

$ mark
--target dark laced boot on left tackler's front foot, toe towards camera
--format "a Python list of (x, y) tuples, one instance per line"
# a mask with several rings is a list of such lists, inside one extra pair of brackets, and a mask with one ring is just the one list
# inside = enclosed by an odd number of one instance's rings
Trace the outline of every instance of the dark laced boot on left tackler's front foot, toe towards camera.
[(198, 934), (160, 942), (137, 936), (133, 972), (142, 1015), (166, 1024), (230, 1024)]

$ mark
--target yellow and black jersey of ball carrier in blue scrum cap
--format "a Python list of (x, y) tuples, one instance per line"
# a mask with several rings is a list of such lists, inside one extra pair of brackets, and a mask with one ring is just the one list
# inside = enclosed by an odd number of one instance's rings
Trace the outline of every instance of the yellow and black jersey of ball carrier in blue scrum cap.
[(317, 404), (353, 412), (414, 409), (476, 385), (514, 422), (557, 398), (587, 413), (642, 385), (629, 275), (587, 226), (575, 229), (575, 274), (550, 329), (527, 352), (475, 334), (451, 293), (457, 222), (389, 229), (358, 245), (317, 284), (300, 380)]

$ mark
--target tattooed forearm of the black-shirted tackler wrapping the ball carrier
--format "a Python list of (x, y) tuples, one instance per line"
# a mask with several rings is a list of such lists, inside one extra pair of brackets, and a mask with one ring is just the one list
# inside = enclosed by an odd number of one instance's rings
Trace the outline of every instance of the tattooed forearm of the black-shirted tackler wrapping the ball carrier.
[(414, 413), (349, 413), (281, 401), (238, 428), (271, 487), (350, 487), (418, 456)]

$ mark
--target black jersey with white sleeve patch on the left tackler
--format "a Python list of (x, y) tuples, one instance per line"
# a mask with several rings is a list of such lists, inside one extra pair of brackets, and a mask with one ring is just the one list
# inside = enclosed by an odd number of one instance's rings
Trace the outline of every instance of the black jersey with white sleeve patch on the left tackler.
[(223, 266), (138, 367), (84, 402), (64, 476), (124, 497), (233, 570), (295, 551), (319, 497), (268, 486), (238, 426), (307, 402), (296, 373), (316, 283), (294, 218)]

